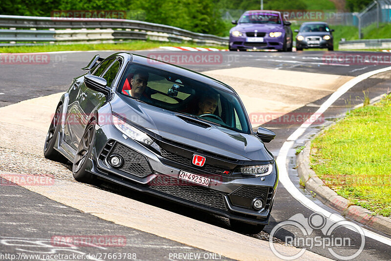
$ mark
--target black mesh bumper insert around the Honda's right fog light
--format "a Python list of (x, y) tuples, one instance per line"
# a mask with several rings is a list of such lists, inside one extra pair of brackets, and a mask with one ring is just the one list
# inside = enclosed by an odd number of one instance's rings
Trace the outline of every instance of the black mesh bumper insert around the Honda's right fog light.
[[(272, 191), (273, 196), (273, 189)], [(238, 207), (244, 207), (251, 209), (251, 202), (254, 198), (261, 198), (265, 209), (268, 209), (271, 204), (269, 200), (269, 188), (267, 187), (255, 187), (255, 186), (242, 186), (229, 195), (229, 198), (233, 205)], [(271, 196), (271, 197), (272, 197)], [(271, 198), (270, 197), (270, 198)]]

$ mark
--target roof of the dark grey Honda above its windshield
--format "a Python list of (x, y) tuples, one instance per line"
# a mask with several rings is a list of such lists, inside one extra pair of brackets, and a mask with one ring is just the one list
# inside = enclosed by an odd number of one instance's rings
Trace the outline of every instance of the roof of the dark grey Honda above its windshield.
[[(125, 58), (125, 60), (128, 60), (128, 62), (133, 62), (133, 63), (140, 64), (140, 65), (147, 65), (147, 66), (150, 66), (150, 67), (153, 67), (156, 69), (170, 71), (175, 74), (183, 75), (185, 77), (194, 79), (196, 81), (200, 81), (200, 82), (212, 85), (214, 87), (218, 87), (220, 89), (237, 94), (236, 91), (232, 87), (230, 87), (230, 86), (228, 86), (228, 85), (226, 85), (226, 84), (224, 84), (224, 83), (222, 83), (212, 77), (206, 76), (206, 75), (201, 74), (199, 72), (196, 72), (196, 71), (193, 71), (193, 70), (190, 70), (190, 69), (178, 66), (178, 65), (169, 64), (169, 63), (157, 60), (157, 59), (153, 59), (150, 57), (146, 57), (146, 56), (142, 56), (142, 55), (134, 54), (134, 53), (120, 52), (120, 53), (112, 54), (109, 57), (112, 57), (112, 56), (122, 56), (123, 58)], [(159, 61), (160, 63), (151, 63), (151, 60)]]

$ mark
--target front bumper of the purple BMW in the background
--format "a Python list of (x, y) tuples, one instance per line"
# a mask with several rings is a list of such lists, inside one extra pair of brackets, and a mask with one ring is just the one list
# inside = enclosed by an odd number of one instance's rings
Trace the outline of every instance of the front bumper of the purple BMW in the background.
[(230, 49), (276, 49), (282, 50), (283, 48), (283, 35), (277, 38), (269, 36), (263, 37), (263, 42), (247, 42), (247, 37), (234, 37), (229, 38)]

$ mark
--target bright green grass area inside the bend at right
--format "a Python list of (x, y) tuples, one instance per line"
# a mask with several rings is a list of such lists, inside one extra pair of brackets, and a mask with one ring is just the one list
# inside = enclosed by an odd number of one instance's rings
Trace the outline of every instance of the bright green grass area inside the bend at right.
[(312, 141), (311, 166), (338, 195), (391, 217), (391, 95), (350, 111)]

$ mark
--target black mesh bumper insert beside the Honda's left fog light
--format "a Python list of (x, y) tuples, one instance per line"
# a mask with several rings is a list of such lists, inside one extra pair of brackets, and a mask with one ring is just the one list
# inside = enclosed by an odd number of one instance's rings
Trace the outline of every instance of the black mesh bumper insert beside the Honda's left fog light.
[(127, 148), (119, 143), (114, 145), (110, 155), (118, 154), (124, 159), (124, 165), (119, 170), (126, 173), (136, 175), (138, 177), (145, 177), (152, 174), (152, 169), (147, 161), (147, 158), (130, 148)]

